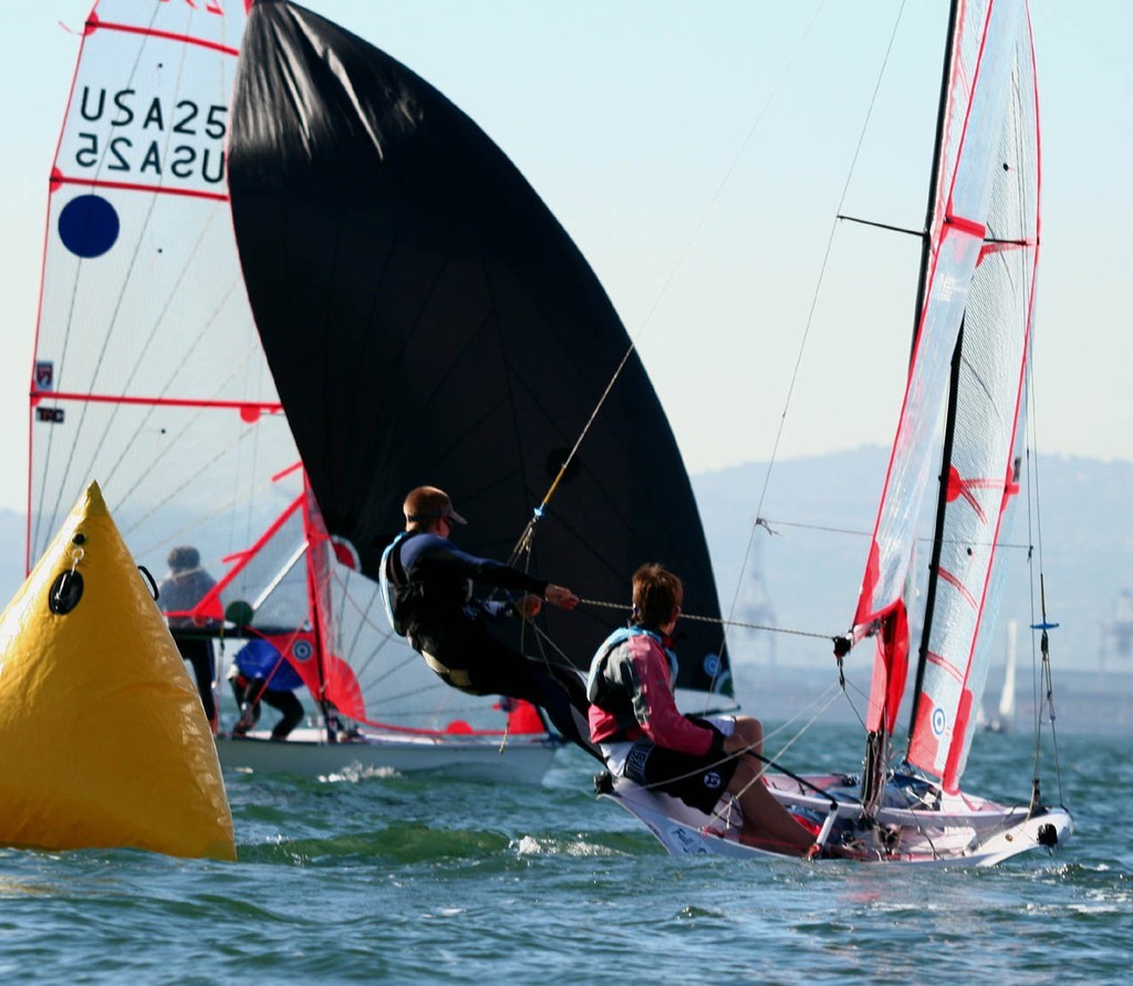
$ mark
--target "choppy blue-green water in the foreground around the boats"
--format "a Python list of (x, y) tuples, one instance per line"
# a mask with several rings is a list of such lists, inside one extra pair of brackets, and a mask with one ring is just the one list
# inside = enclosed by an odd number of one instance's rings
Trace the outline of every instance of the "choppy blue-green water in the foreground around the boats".
[[(1025, 798), (1031, 745), (983, 738), (965, 788)], [(1074, 839), (988, 870), (670, 857), (574, 750), (537, 788), (233, 774), (236, 864), (0, 850), (0, 981), (1125, 981), (1128, 737), (1059, 753)]]

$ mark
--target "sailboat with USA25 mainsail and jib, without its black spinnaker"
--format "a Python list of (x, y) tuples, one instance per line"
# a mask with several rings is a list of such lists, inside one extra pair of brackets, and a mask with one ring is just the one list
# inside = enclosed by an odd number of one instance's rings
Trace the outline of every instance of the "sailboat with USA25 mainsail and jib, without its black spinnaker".
[(497, 697), (438, 682), (383, 627), (376, 583), (322, 522), (229, 212), (245, 25), (239, 2), (99, 0), (87, 18), (50, 182), (28, 566), (92, 479), (139, 563), (160, 573), (171, 547), (198, 550), (216, 587), (180, 615), (225, 660), (245, 636), (271, 639), (306, 681), (314, 723), (282, 742), (222, 725), (225, 767), (538, 783), (559, 739), (518, 720), (509, 731)]

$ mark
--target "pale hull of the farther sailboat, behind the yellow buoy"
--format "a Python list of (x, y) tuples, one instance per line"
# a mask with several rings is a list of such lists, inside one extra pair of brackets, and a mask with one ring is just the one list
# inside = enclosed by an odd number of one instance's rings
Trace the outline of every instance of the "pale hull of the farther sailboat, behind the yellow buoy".
[(272, 740), (267, 731), (216, 737), (225, 771), (313, 777), (432, 771), (513, 784), (540, 784), (561, 745), (545, 734), (509, 737), (503, 742), (502, 736), (374, 730), (334, 743), (321, 729), (297, 729), (286, 740)]

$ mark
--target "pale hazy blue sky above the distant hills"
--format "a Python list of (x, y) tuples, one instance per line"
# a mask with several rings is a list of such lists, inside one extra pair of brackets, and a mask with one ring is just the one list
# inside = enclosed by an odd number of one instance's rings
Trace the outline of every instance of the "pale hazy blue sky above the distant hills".
[[(78, 49), (60, 22), (79, 29), (90, 6), (5, 5), (0, 508), (25, 509), (46, 178)], [(691, 471), (768, 458), (781, 419), (785, 457), (892, 440), (919, 241), (834, 216), (922, 224), (943, 0), (909, 0), (884, 75), (895, 0), (307, 6), (409, 65), (511, 156), (638, 340)], [(1133, 3), (1034, 0), (1032, 20), (1038, 449), (1130, 459)]]

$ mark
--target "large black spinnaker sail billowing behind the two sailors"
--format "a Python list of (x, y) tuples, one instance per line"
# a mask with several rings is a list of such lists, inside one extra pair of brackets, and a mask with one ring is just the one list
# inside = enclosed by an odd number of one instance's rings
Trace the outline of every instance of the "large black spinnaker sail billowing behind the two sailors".
[[(594, 272), (516, 167), (435, 88), (293, 3), (250, 12), (229, 185), (248, 296), (332, 536), (376, 577), (408, 490), (506, 558), (630, 347)], [(692, 491), (632, 354), (545, 516), (531, 569), (627, 603), (661, 561), (719, 604)], [(578, 665), (625, 613), (547, 613)], [(689, 623), (679, 685), (731, 694), (723, 634)]]

